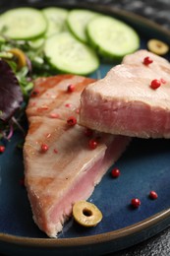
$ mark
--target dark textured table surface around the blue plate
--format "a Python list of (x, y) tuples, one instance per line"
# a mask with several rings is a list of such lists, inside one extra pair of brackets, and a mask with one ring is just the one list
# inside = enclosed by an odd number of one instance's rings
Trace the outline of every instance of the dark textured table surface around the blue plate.
[[(15, 7), (16, 3), (38, 3), (44, 0), (9, 0), (8, 4)], [(63, 1), (57, 1), (63, 2)], [(65, 1), (66, 2), (66, 1)], [(112, 5), (119, 9), (139, 14), (170, 30), (170, 0), (71, 0), (73, 3), (96, 3)], [(0, 8), (7, 6), (7, 0), (0, 0)], [(111, 253), (114, 256), (168, 256), (170, 255), (170, 227), (142, 243), (128, 249)], [(108, 255), (108, 256), (109, 256)]]

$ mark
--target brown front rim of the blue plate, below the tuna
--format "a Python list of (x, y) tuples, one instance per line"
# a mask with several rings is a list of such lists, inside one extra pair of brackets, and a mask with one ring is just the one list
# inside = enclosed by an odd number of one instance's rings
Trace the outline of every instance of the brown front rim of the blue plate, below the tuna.
[(149, 218), (144, 219), (142, 222), (137, 224), (131, 224), (129, 226), (119, 228), (113, 231), (94, 234), (94, 235), (87, 235), (87, 236), (80, 236), (80, 237), (73, 237), (73, 238), (36, 238), (36, 237), (25, 237), (25, 236), (17, 236), (13, 234), (1, 233), (0, 232), (0, 239), (5, 242), (13, 242), (14, 244), (27, 245), (27, 246), (41, 246), (44, 247), (46, 245), (51, 247), (75, 247), (80, 245), (90, 245), (90, 244), (97, 244), (100, 242), (108, 242), (112, 241), (113, 239), (120, 239), (126, 237), (127, 235), (137, 234), (141, 232), (143, 229), (149, 228), (152, 225), (158, 224), (159, 222), (166, 222), (166, 220), (170, 220), (170, 208), (163, 210)]

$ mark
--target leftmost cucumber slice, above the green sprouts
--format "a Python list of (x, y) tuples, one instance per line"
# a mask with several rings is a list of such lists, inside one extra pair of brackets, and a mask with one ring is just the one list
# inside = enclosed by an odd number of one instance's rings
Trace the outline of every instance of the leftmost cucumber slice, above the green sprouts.
[(45, 17), (34, 8), (16, 8), (0, 16), (0, 32), (12, 39), (35, 38), (42, 35), (46, 29)]

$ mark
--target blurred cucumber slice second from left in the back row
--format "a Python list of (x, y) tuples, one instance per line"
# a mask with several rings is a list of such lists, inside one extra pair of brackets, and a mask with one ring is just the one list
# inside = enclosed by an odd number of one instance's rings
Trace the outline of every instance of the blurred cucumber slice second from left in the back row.
[(58, 7), (48, 7), (42, 9), (42, 13), (48, 21), (48, 29), (45, 33), (46, 37), (57, 32), (67, 31), (66, 19), (69, 11)]

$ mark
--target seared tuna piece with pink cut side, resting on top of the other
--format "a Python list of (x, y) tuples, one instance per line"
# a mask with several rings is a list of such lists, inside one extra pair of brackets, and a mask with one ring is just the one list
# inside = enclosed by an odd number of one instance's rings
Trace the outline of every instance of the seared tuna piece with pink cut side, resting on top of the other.
[(105, 78), (85, 87), (80, 124), (112, 134), (169, 138), (170, 63), (146, 50), (126, 56)]

